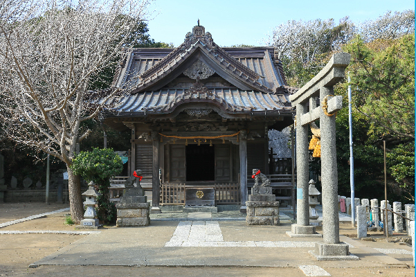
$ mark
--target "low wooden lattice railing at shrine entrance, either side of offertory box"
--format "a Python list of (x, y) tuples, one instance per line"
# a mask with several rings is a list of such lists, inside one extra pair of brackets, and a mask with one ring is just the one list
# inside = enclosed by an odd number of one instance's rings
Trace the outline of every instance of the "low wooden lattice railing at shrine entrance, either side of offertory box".
[[(185, 205), (186, 184), (161, 184), (161, 205)], [(213, 184), (215, 190), (215, 204), (239, 204), (241, 202), (238, 183)]]

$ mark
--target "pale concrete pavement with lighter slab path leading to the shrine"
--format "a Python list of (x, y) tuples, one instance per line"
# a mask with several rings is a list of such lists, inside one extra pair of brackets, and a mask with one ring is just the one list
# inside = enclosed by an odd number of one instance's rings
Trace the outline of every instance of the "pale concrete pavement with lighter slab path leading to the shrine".
[(360, 260), (316, 261), (308, 251), (322, 238), (289, 238), (285, 234), (290, 230), (289, 220), (280, 226), (248, 226), (241, 214), (232, 212), (227, 217), (214, 215), (216, 218), (213, 214), (182, 214), (175, 220), (168, 220), (167, 214), (154, 218), (147, 227), (102, 229), (101, 233), (87, 235), (31, 267), (294, 267), (306, 276), (325, 276), (323, 268), (412, 265), (411, 247), (407, 245), (362, 241), (343, 235), (341, 241), (350, 244), (350, 252)]

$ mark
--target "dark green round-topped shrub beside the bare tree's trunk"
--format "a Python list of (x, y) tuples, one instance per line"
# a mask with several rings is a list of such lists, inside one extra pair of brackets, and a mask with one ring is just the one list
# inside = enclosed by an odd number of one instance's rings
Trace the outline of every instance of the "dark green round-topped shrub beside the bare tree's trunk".
[(97, 197), (98, 219), (105, 223), (116, 220), (116, 206), (109, 201), (110, 178), (123, 170), (118, 154), (111, 148), (93, 148), (91, 152), (80, 152), (72, 161), (71, 169), (85, 181), (93, 181), (101, 196)]

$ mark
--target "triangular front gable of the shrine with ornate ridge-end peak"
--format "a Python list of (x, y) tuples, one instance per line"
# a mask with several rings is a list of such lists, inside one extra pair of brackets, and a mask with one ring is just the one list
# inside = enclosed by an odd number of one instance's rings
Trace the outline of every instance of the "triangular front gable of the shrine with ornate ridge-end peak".
[[(204, 71), (190, 73), (192, 66), (201, 67), (206, 64)], [(208, 78), (212, 71), (241, 90), (254, 90), (275, 93), (259, 82), (260, 75), (226, 53), (212, 41), (210, 33), (205, 33), (204, 26), (195, 26), (192, 33), (188, 33), (185, 42), (165, 56), (150, 69), (136, 76), (139, 82), (131, 89), (132, 94), (145, 90), (156, 91), (174, 80), (181, 73), (200, 79)], [(203, 78), (204, 77), (204, 78)]]

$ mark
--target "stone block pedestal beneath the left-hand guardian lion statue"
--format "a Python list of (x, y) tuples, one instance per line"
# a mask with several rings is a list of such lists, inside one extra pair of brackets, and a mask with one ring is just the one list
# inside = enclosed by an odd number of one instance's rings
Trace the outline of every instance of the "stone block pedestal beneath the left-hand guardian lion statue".
[(148, 226), (150, 224), (150, 203), (119, 203), (117, 227)]

